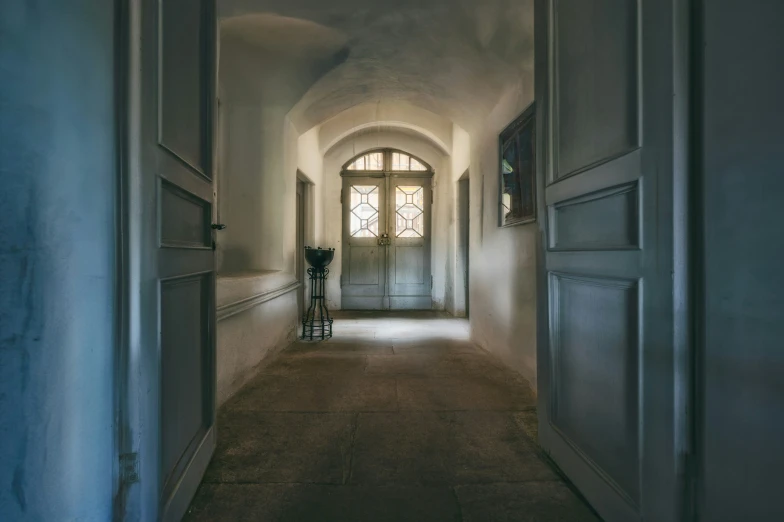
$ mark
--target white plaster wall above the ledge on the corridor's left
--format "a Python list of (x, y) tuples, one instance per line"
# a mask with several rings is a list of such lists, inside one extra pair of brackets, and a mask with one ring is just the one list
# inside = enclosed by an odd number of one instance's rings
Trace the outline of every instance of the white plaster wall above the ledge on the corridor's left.
[(294, 101), (269, 74), (274, 62), (259, 54), (233, 37), (221, 40), (218, 206), (227, 228), (219, 235), (219, 273), (293, 271), (299, 135), (287, 113)]

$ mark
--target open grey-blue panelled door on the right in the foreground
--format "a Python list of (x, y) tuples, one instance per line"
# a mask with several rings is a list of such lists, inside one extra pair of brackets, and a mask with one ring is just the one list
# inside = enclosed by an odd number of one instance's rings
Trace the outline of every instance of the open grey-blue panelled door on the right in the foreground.
[(675, 4), (536, 3), (539, 437), (608, 522), (681, 514)]

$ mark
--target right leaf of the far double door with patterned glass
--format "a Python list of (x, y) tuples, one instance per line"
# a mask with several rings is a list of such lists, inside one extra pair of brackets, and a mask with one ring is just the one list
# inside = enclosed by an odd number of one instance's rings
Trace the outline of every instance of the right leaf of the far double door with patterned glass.
[(431, 178), (389, 178), (388, 292), (391, 310), (430, 310)]

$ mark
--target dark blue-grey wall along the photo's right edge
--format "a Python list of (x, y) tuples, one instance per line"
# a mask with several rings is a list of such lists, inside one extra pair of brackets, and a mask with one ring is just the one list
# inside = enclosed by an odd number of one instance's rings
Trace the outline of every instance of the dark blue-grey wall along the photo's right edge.
[(700, 520), (784, 520), (784, 2), (701, 4)]

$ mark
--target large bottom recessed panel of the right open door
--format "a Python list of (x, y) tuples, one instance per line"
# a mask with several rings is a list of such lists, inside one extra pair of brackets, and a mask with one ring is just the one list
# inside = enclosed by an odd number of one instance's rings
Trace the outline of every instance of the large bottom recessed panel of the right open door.
[(550, 285), (550, 422), (637, 503), (637, 281), (551, 272)]

